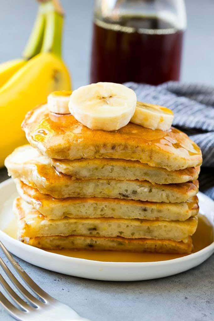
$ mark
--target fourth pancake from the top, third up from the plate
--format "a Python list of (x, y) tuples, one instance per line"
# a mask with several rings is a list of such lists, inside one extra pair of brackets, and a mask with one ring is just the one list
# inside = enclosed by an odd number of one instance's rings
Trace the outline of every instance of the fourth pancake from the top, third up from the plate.
[(118, 198), (64, 198), (41, 194), (36, 188), (15, 179), (19, 195), (47, 219), (114, 217), (125, 219), (185, 221), (198, 213), (198, 198), (185, 203), (155, 203)]

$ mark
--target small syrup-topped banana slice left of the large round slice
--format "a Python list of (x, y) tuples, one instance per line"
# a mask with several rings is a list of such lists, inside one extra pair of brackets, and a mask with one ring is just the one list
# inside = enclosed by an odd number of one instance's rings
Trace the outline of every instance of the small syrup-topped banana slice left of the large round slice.
[(70, 114), (68, 103), (72, 91), (53, 91), (47, 96), (47, 106), (52, 113)]

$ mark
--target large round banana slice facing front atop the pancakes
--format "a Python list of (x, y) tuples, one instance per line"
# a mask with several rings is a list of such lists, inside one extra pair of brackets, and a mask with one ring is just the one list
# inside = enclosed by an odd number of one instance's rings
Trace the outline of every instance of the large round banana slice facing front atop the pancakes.
[(135, 92), (113, 82), (98, 82), (74, 90), (71, 114), (90, 129), (117, 130), (128, 124), (136, 107)]

